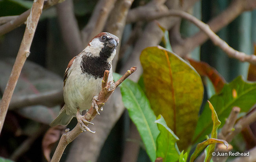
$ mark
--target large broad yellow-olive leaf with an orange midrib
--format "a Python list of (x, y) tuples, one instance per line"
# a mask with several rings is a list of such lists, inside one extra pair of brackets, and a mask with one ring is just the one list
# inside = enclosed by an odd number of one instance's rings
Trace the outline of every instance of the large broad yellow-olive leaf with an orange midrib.
[(140, 61), (152, 109), (164, 117), (180, 139), (179, 148), (185, 149), (192, 140), (203, 99), (201, 77), (190, 64), (160, 46), (145, 48)]

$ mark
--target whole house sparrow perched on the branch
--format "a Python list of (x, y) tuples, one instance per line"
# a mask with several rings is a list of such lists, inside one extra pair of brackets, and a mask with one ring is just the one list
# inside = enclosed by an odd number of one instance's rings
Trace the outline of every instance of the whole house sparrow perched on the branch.
[[(91, 131), (85, 126), (88, 122), (80, 114), (82, 110), (94, 106), (98, 112), (98, 95), (105, 70), (109, 70), (108, 82), (113, 80), (112, 59), (116, 54), (118, 37), (102, 32), (96, 35), (79, 55), (68, 63), (64, 75), (63, 94), (65, 105), (50, 126), (68, 125), (76, 116), (83, 131)], [(99, 114), (99, 112), (98, 112)]]

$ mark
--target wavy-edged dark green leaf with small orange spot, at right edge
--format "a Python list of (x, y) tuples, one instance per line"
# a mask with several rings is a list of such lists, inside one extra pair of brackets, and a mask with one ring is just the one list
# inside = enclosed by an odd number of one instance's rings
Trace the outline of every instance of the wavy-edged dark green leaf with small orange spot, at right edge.
[[(241, 112), (247, 112), (256, 103), (256, 83), (245, 82), (239, 76), (225, 85), (221, 93), (212, 96), (209, 101), (214, 106), (222, 127), (234, 106), (240, 107)], [(209, 120), (210, 115), (209, 105), (206, 104), (199, 117), (193, 143), (202, 141), (211, 132), (213, 124)]]

